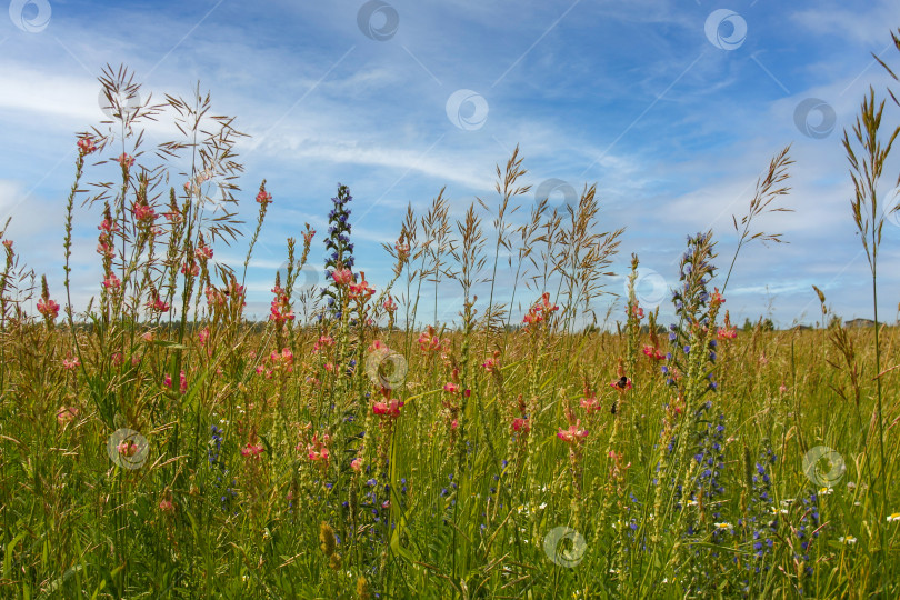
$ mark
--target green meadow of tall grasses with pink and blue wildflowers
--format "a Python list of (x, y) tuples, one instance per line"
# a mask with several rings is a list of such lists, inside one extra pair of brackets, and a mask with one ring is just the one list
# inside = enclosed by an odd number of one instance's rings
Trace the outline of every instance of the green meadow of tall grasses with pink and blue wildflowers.
[[(738, 252), (780, 241), (757, 222), (784, 210), (789, 149), (734, 218), (737, 251), (687, 238), (671, 322), (641, 306), (634, 254), (613, 326), (598, 322), (622, 232), (601, 231), (593, 187), (521, 208), (518, 149), (496, 200), (459, 218), (443, 192), (410, 208), (379, 287), (353, 256), (360, 200), (339, 186), (329, 230), (286, 241), (253, 322), (248, 266), (279, 198), (264, 181), (249, 194), (242, 237), (247, 194), (221, 183), (241, 170), (231, 121), (199, 94), (129, 106), (120, 81), (101, 80), (118, 134), (73, 141), (66, 287), (2, 238), (0, 596), (900, 594), (900, 329), (877, 312), (848, 328), (818, 288), (812, 328), (739, 330), (728, 311)], [(872, 91), (844, 138), (873, 296), (897, 134), (882, 107)], [(142, 120), (162, 117), (184, 138), (142, 153)], [(113, 181), (92, 179), (103, 164)], [(101, 268), (79, 310), (72, 220), (91, 210)], [(243, 264), (217, 260), (224, 242)], [(302, 284), (310, 268), (319, 286)], [(456, 319), (439, 283), (463, 298)]]

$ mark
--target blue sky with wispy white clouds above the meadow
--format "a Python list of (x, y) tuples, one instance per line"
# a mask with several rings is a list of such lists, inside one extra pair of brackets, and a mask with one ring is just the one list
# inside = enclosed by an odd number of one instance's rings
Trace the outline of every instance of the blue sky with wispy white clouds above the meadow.
[[(639, 291), (652, 306), (677, 281), (687, 234), (713, 229), (724, 274), (737, 244), (731, 214), (743, 214), (757, 177), (790, 143), (792, 192), (781, 202), (796, 212), (759, 222), (790, 243), (747, 247), (726, 307), (732, 320), (810, 322), (817, 284), (836, 312), (871, 317), (840, 139), (869, 86), (883, 97), (889, 84), (871, 54), (900, 67), (896, 1), (13, 0), (9, 12), (0, 16), (0, 217), (12, 217), (8, 238), (58, 299), (73, 133), (104, 118), (97, 78), (124, 63), (144, 98), (189, 97), (199, 80), (214, 111), (252, 136), (238, 146), (241, 217), (252, 222), (262, 179), (274, 203), (251, 264), (250, 313), (268, 311), (284, 239), (304, 222), (319, 231), (311, 259), (321, 260), (338, 182), (354, 197), (357, 267), (379, 288), (391, 268), (380, 246), (396, 240), (407, 206), (423, 213), (444, 186), (453, 218), (476, 197), (492, 204), (494, 166), (517, 144), (534, 188), (597, 183), (601, 229), (627, 228), (613, 270), (623, 276), (637, 252)], [(822, 110), (803, 119), (808, 99)], [(887, 113), (889, 126), (900, 122), (896, 109)], [(146, 143), (170, 137), (170, 126), (153, 123)], [(891, 160), (886, 199), (898, 172)], [(521, 213), (534, 201), (519, 198)], [(96, 211), (76, 216), (78, 306), (99, 291), (97, 222)], [(898, 223), (886, 224), (880, 259), (889, 320), (900, 301)], [(217, 247), (216, 258), (237, 266), (242, 249)], [(621, 293), (622, 277), (607, 289)], [(442, 290), (446, 319), (456, 293)], [(594, 308), (602, 317), (614, 300)], [(664, 301), (661, 311), (671, 313)]]

